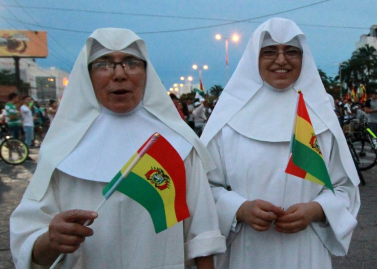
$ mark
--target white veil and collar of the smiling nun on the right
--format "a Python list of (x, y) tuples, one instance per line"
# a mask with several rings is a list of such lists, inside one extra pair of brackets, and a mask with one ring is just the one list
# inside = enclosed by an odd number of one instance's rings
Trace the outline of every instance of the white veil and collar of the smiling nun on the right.
[[(301, 89), (309, 113), (310, 111), (313, 112), (310, 113), (310, 120), (315, 132), (321, 133), (324, 131), (323, 127), (325, 127), (325, 129), (329, 129), (333, 134), (340, 148), (342, 165), (350, 180), (357, 186), (360, 182), (359, 176), (354, 168), (338, 118), (331, 108), (316, 64), (311, 56), (306, 37), (291, 20), (283, 18), (269, 19), (255, 30), (236, 71), (225, 86), (205, 126), (201, 140), (207, 145), (216, 133), (229, 121), (232, 121), (231, 124), (234, 129), (240, 130), (240, 132), (242, 130), (241, 133), (249, 138), (255, 137), (259, 133), (261, 125), (266, 124), (268, 121), (266, 125), (269, 128), (264, 128), (262, 141), (290, 140), (290, 136), (288, 137), (287, 135), (278, 139), (277, 137), (292, 132), (294, 115), (291, 118), (285, 118), (280, 113), (285, 114), (286, 108), (289, 109), (292, 106), (296, 106), (297, 98), (293, 98), (294, 100), (286, 99), (286, 102), (270, 99), (264, 100), (264, 110), (258, 111), (258, 114), (254, 114), (256, 111), (253, 106), (259, 105), (258, 101), (254, 101), (258, 97), (256, 93), (269, 88), (263, 82), (258, 70), (261, 43), (267, 32), (279, 43), (286, 43), (296, 36), (300, 41), (303, 50), (302, 70), (300, 77), (291, 87), (296, 90)], [(274, 102), (274, 105), (271, 105), (270, 102)], [(274, 113), (274, 117), (270, 116), (271, 113)], [(257, 117), (261, 118), (259, 119), (259, 125), (248, 123), (250, 119)]]

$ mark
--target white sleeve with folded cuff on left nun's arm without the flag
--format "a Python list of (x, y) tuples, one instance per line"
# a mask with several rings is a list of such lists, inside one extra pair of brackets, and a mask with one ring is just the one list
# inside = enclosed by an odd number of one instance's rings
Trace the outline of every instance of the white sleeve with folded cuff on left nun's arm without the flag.
[(199, 155), (193, 149), (184, 160), (186, 169), (186, 200), (190, 217), (185, 219), (185, 263), (190, 265), (196, 257), (223, 253), (225, 237), (219, 230), (214, 199)]

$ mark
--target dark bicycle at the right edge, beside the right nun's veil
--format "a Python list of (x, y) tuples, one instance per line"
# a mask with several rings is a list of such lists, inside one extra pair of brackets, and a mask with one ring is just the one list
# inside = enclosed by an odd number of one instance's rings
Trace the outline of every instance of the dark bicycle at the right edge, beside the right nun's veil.
[(355, 151), (358, 167), (361, 171), (368, 170), (377, 163), (377, 137), (364, 118), (351, 119), (348, 122), (348, 135)]

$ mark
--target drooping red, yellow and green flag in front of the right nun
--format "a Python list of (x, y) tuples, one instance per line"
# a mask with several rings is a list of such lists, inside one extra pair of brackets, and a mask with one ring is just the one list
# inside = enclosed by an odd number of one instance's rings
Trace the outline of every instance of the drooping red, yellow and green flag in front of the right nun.
[(292, 151), (285, 172), (324, 185), (334, 192), (301, 91), (291, 144)]

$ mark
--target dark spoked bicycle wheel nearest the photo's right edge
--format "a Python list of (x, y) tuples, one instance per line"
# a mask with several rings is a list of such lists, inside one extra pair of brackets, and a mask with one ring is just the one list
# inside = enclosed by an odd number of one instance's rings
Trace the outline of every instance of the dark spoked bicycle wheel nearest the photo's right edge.
[(359, 159), (358, 166), (360, 170), (364, 171), (372, 168), (377, 160), (377, 152), (370, 142), (363, 139), (356, 139), (352, 141), (352, 146)]

